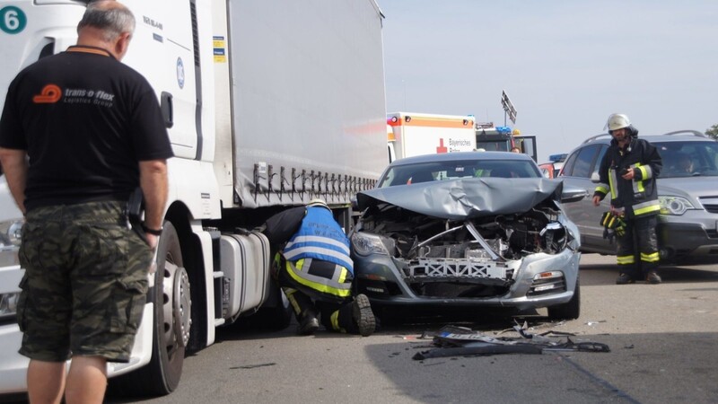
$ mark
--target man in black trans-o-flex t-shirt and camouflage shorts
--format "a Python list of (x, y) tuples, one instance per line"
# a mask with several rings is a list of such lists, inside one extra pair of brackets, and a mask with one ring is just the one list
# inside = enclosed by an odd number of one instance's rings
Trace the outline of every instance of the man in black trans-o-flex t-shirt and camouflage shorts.
[[(141, 320), (173, 154), (152, 87), (119, 62), (134, 28), (123, 4), (91, 3), (77, 45), (23, 69), (5, 99), (0, 162), (26, 219), (17, 317), (31, 401), (101, 402), (106, 363), (129, 360)], [(144, 239), (127, 225), (137, 187)]]

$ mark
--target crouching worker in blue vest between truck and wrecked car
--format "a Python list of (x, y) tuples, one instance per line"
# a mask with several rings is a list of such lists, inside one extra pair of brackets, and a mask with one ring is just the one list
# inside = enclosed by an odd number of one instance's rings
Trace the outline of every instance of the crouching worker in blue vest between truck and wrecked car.
[(328, 330), (372, 335), (376, 321), (369, 298), (352, 296), (349, 240), (326, 202), (312, 199), (276, 214), (263, 233), (277, 251), (272, 275), (292, 303), (299, 334), (313, 334), (321, 320)]

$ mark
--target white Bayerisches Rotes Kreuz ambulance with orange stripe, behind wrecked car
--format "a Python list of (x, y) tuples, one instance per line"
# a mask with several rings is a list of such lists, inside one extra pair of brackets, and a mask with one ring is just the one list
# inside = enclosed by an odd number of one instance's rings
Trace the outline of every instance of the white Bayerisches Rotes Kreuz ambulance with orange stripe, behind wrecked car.
[(387, 114), (389, 159), (420, 154), (471, 152), (476, 148), (474, 117), (412, 112)]

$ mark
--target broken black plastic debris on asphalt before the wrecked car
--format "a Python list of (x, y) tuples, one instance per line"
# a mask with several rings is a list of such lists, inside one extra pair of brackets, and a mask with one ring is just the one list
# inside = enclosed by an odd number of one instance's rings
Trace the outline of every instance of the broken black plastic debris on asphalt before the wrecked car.
[(422, 351), (413, 356), (414, 360), (447, 356), (489, 356), (503, 354), (540, 355), (546, 352), (610, 352), (606, 344), (600, 342), (574, 342), (568, 333), (547, 331), (532, 334), (525, 327), (516, 326), (519, 338), (495, 338), (479, 331), (448, 325), (439, 331), (426, 331), (423, 338), (432, 337), (435, 348)]

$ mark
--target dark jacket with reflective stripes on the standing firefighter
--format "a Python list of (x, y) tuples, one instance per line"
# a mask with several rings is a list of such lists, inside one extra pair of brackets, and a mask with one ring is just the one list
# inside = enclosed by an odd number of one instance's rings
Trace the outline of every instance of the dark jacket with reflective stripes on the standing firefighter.
[[(661, 210), (656, 189), (656, 177), (663, 163), (655, 146), (644, 139), (631, 137), (625, 148), (612, 140), (600, 162), (600, 183), (593, 195), (601, 199), (611, 194), (611, 206), (624, 208), (626, 217), (657, 215)], [(626, 169), (634, 171), (633, 180), (624, 180)]]

